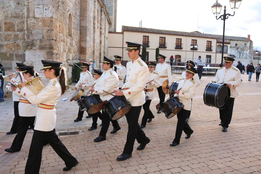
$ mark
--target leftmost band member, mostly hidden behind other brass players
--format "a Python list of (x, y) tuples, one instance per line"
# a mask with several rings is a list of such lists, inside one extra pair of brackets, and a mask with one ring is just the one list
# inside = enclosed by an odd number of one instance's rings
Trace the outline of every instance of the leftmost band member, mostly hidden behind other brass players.
[[(26, 64), (22, 63), (16, 63), (16, 71), (19, 72), (19, 67), (26, 66)], [(18, 76), (16, 79), (13, 77), (11, 79), (12, 84), (19, 81), (20, 77)], [(17, 133), (18, 125), (19, 125), (19, 110), (18, 110), (18, 104), (19, 104), (19, 96), (14, 94), (14, 91), (12, 91), (12, 100), (14, 101), (14, 121), (11, 127), (10, 132), (6, 133), (7, 135)]]

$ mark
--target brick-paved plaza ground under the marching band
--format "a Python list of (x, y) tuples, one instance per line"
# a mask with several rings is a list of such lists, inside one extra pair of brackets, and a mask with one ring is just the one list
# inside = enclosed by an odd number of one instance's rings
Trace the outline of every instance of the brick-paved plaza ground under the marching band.
[[(173, 81), (179, 78), (180, 74), (173, 75)], [(156, 94), (155, 100), (151, 102), (155, 119), (143, 129), (151, 142), (142, 151), (136, 150), (138, 144), (135, 142), (133, 157), (122, 162), (116, 161), (116, 157), (122, 153), (126, 142), (128, 124), (125, 117), (119, 120), (122, 127), (120, 131), (110, 134), (110, 125), (107, 140), (96, 143), (93, 139), (98, 136), (100, 126), (94, 131), (88, 131), (91, 118), (74, 123), (73, 119), (78, 112), (77, 104), (59, 100), (56, 107), (57, 132), (83, 131), (80, 135), (60, 136), (70, 153), (79, 161), (79, 165), (69, 172), (62, 171), (65, 166), (63, 160), (47, 145), (43, 148), (40, 173), (261, 173), (261, 82), (255, 82), (254, 78), (251, 82), (247, 81), (248, 75), (242, 75), (243, 83), (238, 87), (240, 95), (235, 99), (231, 124), (227, 132), (222, 132), (221, 126), (218, 126), (218, 109), (206, 106), (202, 97), (206, 84), (213, 78), (214, 76), (203, 76), (193, 98), (189, 119), (194, 130), (191, 138), (185, 139), (183, 133), (179, 145), (169, 146), (175, 136), (177, 118), (166, 119), (163, 113), (156, 113), (155, 105), (159, 102)], [(69, 89), (61, 99), (69, 98), (72, 91)], [(13, 103), (10, 99), (0, 103), (0, 113), (0, 174), (24, 173), (32, 131), (28, 131), (20, 152), (4, 152), (5, 148), (10, 147), (15, 136), (6, 135), (13, 119)], [(142, 110), (139, 123), (143, 113)], [(84, 116), (86, 115), (85, 113)]]

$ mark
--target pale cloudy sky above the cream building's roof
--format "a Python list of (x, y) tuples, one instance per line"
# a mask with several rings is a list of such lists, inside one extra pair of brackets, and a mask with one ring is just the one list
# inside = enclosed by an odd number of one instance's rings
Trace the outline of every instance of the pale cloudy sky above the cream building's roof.
[[(221, 14), (233, 14), (229, 0), (218, 1)], [(175, 31), (223, 34), (223, 21), (216, 20), (211, 6), (215, 0), (117, 0), (117, 31), (122, 25)], [(225, 35), (251, 35), (254, 49), (261, 51), (261, 0), (242, 0), (235, 16), (226, 19)]]

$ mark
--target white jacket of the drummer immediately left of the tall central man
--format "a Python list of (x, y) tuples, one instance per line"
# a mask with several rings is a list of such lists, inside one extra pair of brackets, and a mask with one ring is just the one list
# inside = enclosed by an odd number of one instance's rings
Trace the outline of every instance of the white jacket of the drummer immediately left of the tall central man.
[[(105, 94), (113, 92), (114, 89), (119, 89), (119, 78), (117, 73), (110, 68), (107, 71), (104, 71), (99, 78), (99, 80), (96, 81), (96, 84), (94, 86), (94, 93), (100, 95), (100, 99), (102, 101), (109, 101), (113, 95), (106, 95)], [(106, 92), (104, 92), (105, 90)]]

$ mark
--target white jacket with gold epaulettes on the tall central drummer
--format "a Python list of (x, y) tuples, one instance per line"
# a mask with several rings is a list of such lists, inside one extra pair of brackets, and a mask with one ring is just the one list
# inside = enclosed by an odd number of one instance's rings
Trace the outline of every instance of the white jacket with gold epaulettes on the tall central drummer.
[(144, 86), (148, 82), (149, 71), (146, 63), (138, 57), (135, 61), (128, 61), (126, 65), (126, 82), (122, 88), (131, 106), (142, 106), (145, 103)]

